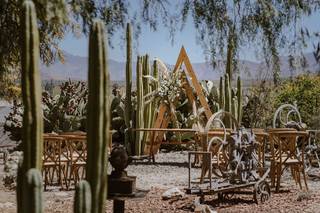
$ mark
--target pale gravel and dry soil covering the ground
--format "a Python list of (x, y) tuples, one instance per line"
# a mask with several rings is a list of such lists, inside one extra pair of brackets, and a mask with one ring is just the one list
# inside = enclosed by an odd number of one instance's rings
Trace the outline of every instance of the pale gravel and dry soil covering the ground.
[[(129, 175), (136, 175), (137, 187), (150, 190), (140, 200), (126, 202), (126, 212), (191, 212), (194, 196), (184, 199), (163, 201), (162, 193), (169, 188), (181, 190), (187, 186), (187, 153), (160, 153), (156, 164), (138, 162), (128, 167)], [(0, 176), (3, 166), (0, 166)], [(1, 177), (0, 177), (1, 178)], [(300, 190), (290, 175), (283, 178), (281, 193), (272, 193), (264, 204), (257, 205), (252, 195), (234, 195), (228, 201), (218, 203), (216, 196), (207, 196), (206, 203), (217, 212), (320, 212), (320, 179), (309, 178), (309, 191)], [(58, 188), (44, 193), (45, 212), (72, 212), (74, 191), (59, 191)], [(0, 212), (16, 212), (15, 191), (5, 189), (0, 184)], [(107, 212), (112, 212), (112, 202), (107, 202)]]

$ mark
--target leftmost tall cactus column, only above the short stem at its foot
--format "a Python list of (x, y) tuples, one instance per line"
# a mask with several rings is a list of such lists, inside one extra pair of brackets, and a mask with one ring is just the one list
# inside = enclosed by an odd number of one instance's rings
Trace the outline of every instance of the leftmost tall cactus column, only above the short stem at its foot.
[(39, 33), (32, 1), (25, 1), (22, 10), (22, 97), (23, 97), (23, 173), (30, 168), (41, 170), (43, 120), (41, 79), (39, 72)]

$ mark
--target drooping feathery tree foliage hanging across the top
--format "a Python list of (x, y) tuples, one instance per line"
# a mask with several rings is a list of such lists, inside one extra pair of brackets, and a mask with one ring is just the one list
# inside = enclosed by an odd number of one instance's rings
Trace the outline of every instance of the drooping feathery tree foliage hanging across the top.
[[(16, 67), (19, 58), (19, 8), (22, 0), (2, 0), (0, 4), (0, 74)], [(307, 29), (299, 28), (301, 18), (318, 12), (318, 0), (34, 0), (39, 23), (42, 61), (63, 59), (59, 41), (67, 32), (88, 31), (94, 18), (106, 23), (112, 36), (132, 22), (135, 37), (146, 24), (157, 30), (164, 25), (171, 37), (192, 18), (205, 55), (215, 64), (225, 58), (226, 47), (233, 47), (234, 62), (239, 49), (249, 43), (260, 49), (279, 80), (279, 48), (293, 53), (305, 45)], [(110, 42), (111, 44), (111, 42)], [(112, 45), (111, 45), (112, 46)], [(236, 64), (236, 63), (233, 63)], [(235, 67), (234, 67), (235, 68)]]

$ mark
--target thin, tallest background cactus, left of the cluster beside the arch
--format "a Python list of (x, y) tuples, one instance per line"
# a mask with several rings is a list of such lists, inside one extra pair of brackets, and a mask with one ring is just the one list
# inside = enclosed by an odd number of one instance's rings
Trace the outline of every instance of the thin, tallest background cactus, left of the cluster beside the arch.
[(127, 24), (127, 63), (126, 63), (126, 99), (125, 99), (125, 123), (127, 131), (125, 133), (125, 146), (130, 152), (131, 141), (131, 115), (132, 115), (132, 103), (131, 103), (131, 89), (132, 89), (132, 50), (131, 50), (131, 26)]

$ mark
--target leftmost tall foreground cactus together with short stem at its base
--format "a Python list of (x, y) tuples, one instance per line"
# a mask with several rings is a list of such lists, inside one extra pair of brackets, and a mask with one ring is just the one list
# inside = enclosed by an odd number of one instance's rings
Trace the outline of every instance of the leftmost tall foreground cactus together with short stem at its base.
[(32, 1), (22, 4), (21, 68), (23, 113), (23, 162), (18, 168), (18, 212), (41, 213), (42, 207), (42, 109), (39, 73), (39, 33)]

